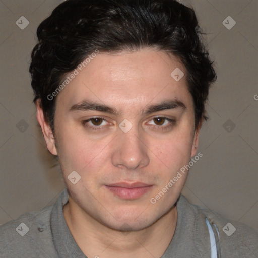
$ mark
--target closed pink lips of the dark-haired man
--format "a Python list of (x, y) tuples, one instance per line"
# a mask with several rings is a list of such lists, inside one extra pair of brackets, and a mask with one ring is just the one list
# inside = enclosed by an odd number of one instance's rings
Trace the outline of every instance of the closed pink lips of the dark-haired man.
[(145, 195), (145, 193), (147, 193), (153, 188), (153, 185), (149, 185), (142, 182), (120, 182), (110, 185), (104, 185), (104, 187), (107, 190), (111, 191), (115, 196), (118, 196), (121, 199), (134, 200)]

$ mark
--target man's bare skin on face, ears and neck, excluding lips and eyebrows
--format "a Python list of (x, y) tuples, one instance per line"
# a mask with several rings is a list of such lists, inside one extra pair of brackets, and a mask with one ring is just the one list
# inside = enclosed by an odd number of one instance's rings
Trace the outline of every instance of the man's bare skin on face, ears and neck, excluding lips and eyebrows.
[[(175, 202), (187, 172), (155, 204), (150, 199), (197, 154), (199, 139), (186, 78), (177, 82), (170, 76), (175, 68), (186, 74), (179, 60), (156, 49), (99, 53), (58, 94), (55, 137), (36, 103), (47, 148), (59, 156), (70, 192), (64, 218), (89, 258), (161, 257), (174, 235)], [(86, 99), (111, 106), (118, 114), (70, 111)], [(186, 108), (142, 113), (148, 105), (166, 100), (180, 100)], [(176, 123), (157, 120), (164, 116)], [(86, 124), (102, 128), (83, 125), (83, 120), (92, 117), (105, 120)], [(119, 128), (124, 119), (133, 125), (127, 133)], [(72, 171), (81, 176), (76, 184), (68, 180)], [(137, 181), (153, 186), (134, 200), (121, 199), (104, 186)]]

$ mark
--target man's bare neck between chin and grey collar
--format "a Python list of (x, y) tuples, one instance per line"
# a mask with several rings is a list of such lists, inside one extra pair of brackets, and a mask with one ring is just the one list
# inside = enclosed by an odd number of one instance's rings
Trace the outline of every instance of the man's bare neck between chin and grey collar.
[(121, 232), (111, 229), (86, 214), (69, 197), (63, 207), (67, 222), (77, 245), (87, 257), (161, 257), (175, 232), (176, 206), (151, 226), (139, 230)]

